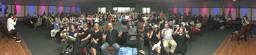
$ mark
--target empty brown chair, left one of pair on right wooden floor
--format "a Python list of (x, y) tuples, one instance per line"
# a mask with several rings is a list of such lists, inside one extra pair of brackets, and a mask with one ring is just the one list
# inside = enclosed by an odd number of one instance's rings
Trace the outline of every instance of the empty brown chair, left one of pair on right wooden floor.
[[(241, 26), (241, 29), (240, 29), (239, 31), (232, 32), (231, 41), (233, 40), (233, 35), (236, 35), (238, 45), (240, 45), (239, 40), (238, 40), (238, 38), (239, 38), (240, 36), (243, 36), (243, 35), (244, 35), (244, 36), (245, 36), (245, 40), (246, 40), (246, 35), (245, 35), (246, 27), (247, 27), (247, 25)], [(247, 40), (246, 40), (246, 41), (247, 41)]]

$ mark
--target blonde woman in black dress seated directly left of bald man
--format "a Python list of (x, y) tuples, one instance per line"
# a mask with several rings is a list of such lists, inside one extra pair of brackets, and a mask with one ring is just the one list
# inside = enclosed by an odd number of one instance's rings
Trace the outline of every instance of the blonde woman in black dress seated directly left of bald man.
[(102, 32), (99, 30), (99, 24), (95, 23), (94, 30), (92, 31), (92, 55), (96, 55), (96, 51), (101, 52), (100, 47), (102, 46)]

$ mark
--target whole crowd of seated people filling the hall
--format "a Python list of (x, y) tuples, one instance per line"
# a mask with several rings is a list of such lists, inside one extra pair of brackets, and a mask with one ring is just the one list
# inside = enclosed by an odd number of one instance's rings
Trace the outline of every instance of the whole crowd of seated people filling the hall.
[[(223, 13), (220, 15), (206, 15), (203, 16), (201, 14), (194, 14), (192, 15), (191, 12), (186, 13), (173, 13), (172, 11), (164, 13), (164, 11), (157, 11), (158, 13), (150, 14), (150, 13), (138, 13), (134, 15), (134, 11), (126, 11), (121, 12), (99, 12), (99, 13), (85, 13), (85, 12), (58, 12), (54, 14), (48, 13), (47, 15), (42, 14), (38, 15), (36, 12), (33, 16), (29, 16), (29, 13), (26, 16), (26, 20), (30, 19), (30, 17), (37, 18), (36, 22), (33, 24), (34, 29), (39, 25), (43, 25), (42, 21), (45, 20), (45, 24), (47, 28), (50, 28), (51, 25), (53, 29), (51, 32), (51, 40), (56, 40), (56, 33), (60, 32), (60, 37), (62, 38), (59, 42), (65, 43), (63, 46), (63, 50), (60, 53), (62, 55), (67, 48), (67, 43), (75, 42), (74, 51), (78, 50), (78, 53), (75, 54), (82, 54), (82, 51), (85, 46), (91, 43), (91, 53), (92, 55), (96, 55), (96, 52), (103, 52), (103, 54), (109, 54), (107, 51), (107, 47), (111, 46), (115, 48), (115, 54), (118, 54), (119, 51), (119, 44), (117, 44), (117, 38), (122, 36), (122, 31), (117, 31), (115, 28), (112, 28), (111, 23), (116, 21), (127, 22), (127, 27), (129, 30), (129, 34), (139, 34), (138, 33), (138, 22), (143, 22), (143, 34), (144, 38), (140, 37), (140, 47), (138, 48), (138, 52), (145, 55), (145, 51), (143, 51), (144, 47), (144, 40), (150, 40), (152, 44), (151, 50), (156, 50), (157, 54), (160, 54), (161, 50), (161, 43), (163, 44), (163, 49), (165, 50), (168, 55), (173, 54), (174, 51), (177, 53), (181, 53), (182, 55), (186, 52), (186, 38), (189, 38), (188, 33), (192, 32), (192, 36), (194, 35), (195, 31), (200, 31), (204, 22), (209, 20), (232, 20), (231, 15), (228, 15), (225, 18), (225, 14)], [(9, 13), (5, 13), (4, 19), (2, 22), (7, 22)], [(11, 18), (15, 20), (16, 18)], [(9, 19), (8, 19), (9, 20)], [(100, 22), (110, 22), (107, 25), (107, 31), (103, 32), (99, 29)], [(69, 22), (77, 22), (80, 23), (78, 25), (68, 25)], [(8, 22), (7, 22), (8, 24)], [(122, 23), (124, 24), (124, 23)], [(125, 23), (126, 24), (126, 23)], [(249, 24), (249, 20), (246, 16), (243, 17), (242, 20), (243, 25)], [(15, 24), (13, 24), (15, 25)], [(75, 27), (77, 26), (77, 27)], [(194, 26), (194, 27), (193, 27)], [(11, 28), (10, 28), (11, 29)], [(80, 31), (76, 30), (80, 29)], [(91, 31), (91, 29), (94, 29)], [(193, 29), (193, 30), (192, 30)], [(14, 28), (12, 28), (14, 30)], [(151, 31), (149, 33), (149, 31)], [(176, 31), (175, 31), (176, 30)], [(65, 35), (72, 36), (77, 38), (79, 41), (75, 41), (76, 39), (68, 38)], [(243, 37), (243, 36), (241, 36)], [(15, 38), (15, 37), (13, 37)], [(160, 40), (161, 39), (161, 40)], [(69, 40), (69, 41), (66, 41)], [(102, 43), (102, 41), (106, 41), (106, 43)], [(171, 47), (169, 47), (171, 45)], [(77, 49), (77, 47), (79, 47)], [(171, 48), (171, 49), (170, 49)]]

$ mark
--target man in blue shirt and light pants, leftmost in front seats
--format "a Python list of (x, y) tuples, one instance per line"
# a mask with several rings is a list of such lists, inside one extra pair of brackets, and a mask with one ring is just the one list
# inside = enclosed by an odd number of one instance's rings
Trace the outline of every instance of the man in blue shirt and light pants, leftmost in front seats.
[(54, 29), (51, 30), (51, 37), (52, 37), (52, 40), (56, 41), (55, 35), (57, 32), (60, 32), (60, 25), (62, 24), (60, 23), (60, 20), (58, 20), (57, 17), (54, 17), (54, 20), (52, 21), (51, 24), (54, 26)]

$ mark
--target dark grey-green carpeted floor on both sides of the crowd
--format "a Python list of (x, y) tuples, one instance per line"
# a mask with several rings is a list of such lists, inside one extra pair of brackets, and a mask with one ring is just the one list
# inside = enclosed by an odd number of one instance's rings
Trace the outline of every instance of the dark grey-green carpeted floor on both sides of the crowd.
[[(106, 25), (106, 22), (104, 22)], [(102, 26), (100, 26), (100, 30)], [(32, 55), (59, 55), (62, 51), (64, 43), (59, 43), (59, 38), (56, 41), (52, 41), (50, 37), (50, 28), (38, 28), (34, 30), (32, 27), (29, 28), (28, 24), (23, 26), (23, 22), (17, 22), (15, 26), (16, 30), (19, 31), (20, 36), (23, 38), (24, 42), (27, 44), (29, 51)], [(214, 28), (207, 33), (207, 30), (202, 28), (200, 37), (198, 34), (193, 38), (194, 41), (191, 41), (191, 44), (187, 42), (187, 52), (185, 55), (212, 55), (219, 48), (221, 43), (227, 37), (231, 35), (231, 32), (235, 31), (235, 28), (232, 30), (229, 29), (217, 29)], [(252, 35), (256, 35), (255, 27), (252, 28)], [(120, 45), (123, 47), (123, 45)], [(148, 47), (144, 47), (146, 55), (149, 55)], [(162, 51), (165, 52), (165, 51)], [(98, 52), (99, 53), (99, 52)], [(98, 55), (97, 53), (97, 55)], [(113, 55), (113, 51), (110, 51), (110, 54)], [(64, 55), (67, 55), (66, 53)], [(141, 55), (138, 53), (138, 55)], [(180, 53), (175, 53), (174, 55), (181, 55)]]

